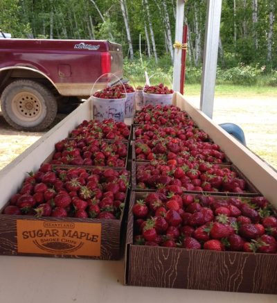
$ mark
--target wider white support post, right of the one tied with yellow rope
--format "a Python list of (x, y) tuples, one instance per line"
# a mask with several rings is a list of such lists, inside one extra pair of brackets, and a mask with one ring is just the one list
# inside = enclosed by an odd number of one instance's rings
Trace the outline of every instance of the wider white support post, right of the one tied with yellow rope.
[(208, 0), (200, 110), (213, 117), (222, 0)]

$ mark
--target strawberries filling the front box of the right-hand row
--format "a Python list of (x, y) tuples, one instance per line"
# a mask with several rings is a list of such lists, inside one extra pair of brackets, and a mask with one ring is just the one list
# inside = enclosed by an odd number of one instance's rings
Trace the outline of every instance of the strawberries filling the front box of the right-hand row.
[(277, 218), (263, 197), (148, 193), (132, 211), (139, 245), (277, 252)]

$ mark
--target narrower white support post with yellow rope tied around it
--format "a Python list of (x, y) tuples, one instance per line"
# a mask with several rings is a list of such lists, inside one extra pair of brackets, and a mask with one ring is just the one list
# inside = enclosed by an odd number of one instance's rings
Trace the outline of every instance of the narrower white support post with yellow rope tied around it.
[[(180, 43), (182, 43), (183, 40), (184, 8), (185, 1), (177, 0), (175, 41)], [(173, 89), (175, 92), (180, 92), (181, 53), (181, 49), (174, 50)]]

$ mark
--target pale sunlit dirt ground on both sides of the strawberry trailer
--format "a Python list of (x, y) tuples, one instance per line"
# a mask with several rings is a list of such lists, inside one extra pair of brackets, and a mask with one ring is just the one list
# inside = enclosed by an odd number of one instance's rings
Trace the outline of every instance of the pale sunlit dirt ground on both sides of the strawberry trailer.
[[(186, 98), (199, 107), (199, 96), (186, 96)], [(274, 96), (219, 97), (215, 98), (213, 112), (213, 120), (216, 123), (238, 124), (244, 130), (247, 147), (274, 168), (277, 168), (276, 102), (277, 98)], [(58, 115), (53, 125), (61, 121), (64, 116)], [(12, 162), (42, 135), (44, 132), (20, 132), (13, 129), (3, 119), (0, 109), (0, 169)]]

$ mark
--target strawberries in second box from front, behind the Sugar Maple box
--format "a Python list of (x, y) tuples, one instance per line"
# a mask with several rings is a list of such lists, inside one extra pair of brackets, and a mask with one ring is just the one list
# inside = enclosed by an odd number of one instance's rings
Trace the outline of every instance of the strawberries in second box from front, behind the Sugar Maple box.
[(93, 137), (66, 138), (55, 144), (51, 164), (126, 166), (128, 146), (120, 140), (103, 141)]

